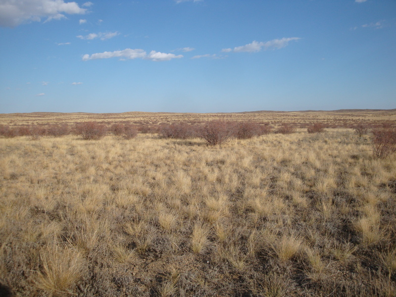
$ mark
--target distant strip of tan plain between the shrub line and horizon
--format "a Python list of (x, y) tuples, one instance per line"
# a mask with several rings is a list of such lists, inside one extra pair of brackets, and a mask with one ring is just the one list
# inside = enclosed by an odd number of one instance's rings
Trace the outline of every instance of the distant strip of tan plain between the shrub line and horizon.
[(253, 111), (239, 113), (8, 113), (0, 114), (0, 125), (27, 124), (73, 124), (84, 121), (117, 123), (128, 121), (135, 124), (159, 124), (177, 122), (202, 122), (207, 120), (254, 121), (269, 124), (322, 122), (330, 126), (350, 126), (357, 123), (381, 124), (396, 121), (396, 109), (334, 110), (334, 111)]

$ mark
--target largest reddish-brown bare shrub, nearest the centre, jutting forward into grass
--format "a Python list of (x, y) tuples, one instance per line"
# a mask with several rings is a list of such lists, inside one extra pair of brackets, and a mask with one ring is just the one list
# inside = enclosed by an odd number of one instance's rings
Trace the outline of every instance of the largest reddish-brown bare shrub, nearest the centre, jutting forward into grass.
[(210, 121), (198, 130), (198, 136), (203, 138), (208, 145), (215, 146), (229, 142), (234, 135), (233, 123), (225, 121)]

